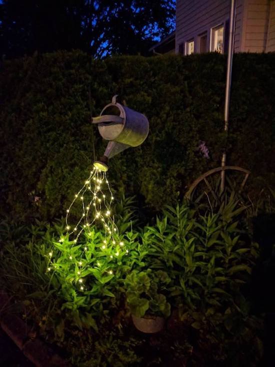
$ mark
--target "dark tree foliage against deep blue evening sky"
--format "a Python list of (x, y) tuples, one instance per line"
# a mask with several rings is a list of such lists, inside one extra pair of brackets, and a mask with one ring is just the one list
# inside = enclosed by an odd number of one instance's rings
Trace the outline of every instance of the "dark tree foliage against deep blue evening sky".
[(146, 54), (173, 28), (174, 11), (169, 0), (3, 0), (1, 49), (8, 57), (72, 49)]

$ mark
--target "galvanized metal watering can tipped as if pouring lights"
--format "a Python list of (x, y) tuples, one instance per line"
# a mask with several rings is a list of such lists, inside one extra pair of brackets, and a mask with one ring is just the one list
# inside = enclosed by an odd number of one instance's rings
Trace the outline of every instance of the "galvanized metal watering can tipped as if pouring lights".
[(92, 124), (97, 124), (99, 134), (108, 144), (104, 155), (93, 163), (100, 171), (108, 170), (108, 159), (129, 147), (137, 147), (146, 139), (149, 131), (147, 118), (139, 112), (116, 102), (117, 95), (106, 105)]

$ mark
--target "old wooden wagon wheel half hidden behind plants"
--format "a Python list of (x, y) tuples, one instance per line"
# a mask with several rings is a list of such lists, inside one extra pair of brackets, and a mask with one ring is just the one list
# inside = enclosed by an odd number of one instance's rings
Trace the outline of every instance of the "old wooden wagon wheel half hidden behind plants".
[[(202, 197), (207, 196), (208, 194), (211, 194), (216, 202), (219, 202), (219, 196), (217, 194), (217, 187), (219, 187), (220, 183), (220, 172), (221, 171), (230, 171), (233, 174), (237, 175), (238, 177), (240, 175), (244, 176), (240, 179), (239, 188), (237, 191), (240, 193), (247, 181), (247, 178), (250, 174), (250, 171), (238, 167), (238, 166), (224, 166), (224, 167), (217, 167), (213, 168), (205, 173), (203, 173), (201, 176), (199, 176), (189, 187), (188, 191), (185, 193), (184, 198), (187, 200), (191, 200), (195, 203), (198, 203), (201, 201)], [(218, 174), (218, 178), (216, 177)], [(226, 179), (228, 175), (226, 174)], [(218, 181), (219, 180), (219, 181)]]

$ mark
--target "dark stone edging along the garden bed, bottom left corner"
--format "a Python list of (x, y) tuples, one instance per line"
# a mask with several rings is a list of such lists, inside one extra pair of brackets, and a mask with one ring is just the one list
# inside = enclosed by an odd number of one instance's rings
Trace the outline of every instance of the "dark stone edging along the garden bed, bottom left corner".
[(23, 320), (12, 313), (3, 313), (10, 305), (10, 299), (0, 290), (0, 326), (22, 353), (36, 367), (70, 367), (70, 363), (56, 354), (44, 341), (31, 338), (31, 328)]

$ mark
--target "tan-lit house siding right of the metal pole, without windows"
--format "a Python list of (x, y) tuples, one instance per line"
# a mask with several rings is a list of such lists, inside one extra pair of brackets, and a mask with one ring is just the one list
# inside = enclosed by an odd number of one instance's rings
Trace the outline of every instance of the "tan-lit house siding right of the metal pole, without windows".
[(245, 0), (241, 51), (266, 50), (269, 10), (269, 0)]

